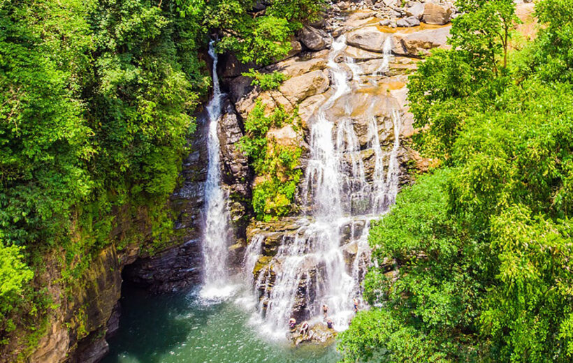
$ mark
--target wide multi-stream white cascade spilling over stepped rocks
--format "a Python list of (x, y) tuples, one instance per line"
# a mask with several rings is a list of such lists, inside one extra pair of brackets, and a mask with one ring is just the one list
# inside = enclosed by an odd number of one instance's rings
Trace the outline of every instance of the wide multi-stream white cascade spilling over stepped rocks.
[[(328, 68), (334, 91), (309, 122), (310, 156), (302, 186), (307, 215), (298, 218), (296, 230), (282, 235), (275, 255), (268, 257), (268, 268), (253, 276), (263, 253), (264, 235), (254, 235), (245, 253), (243, 268), (254, 287), (259, 318), (267, 332), (280, 332), (279, 336), (291, 316), (298, 321), (320, 321), (322, 304), (328, 305), (335, 329), (348, 327), (353, 301), (361, 299), (361, 282), (370, 264), (370, 219), (386, 212), (398, 193), (400, 114), (397, 110), (391, 114), (391, 151), (382, 149), (377, 118), (371, 117), (371, 151), (367, 151), (374, 155), (375, 165), (372, 175), (367, 175), (361, 156), (365, 150), (358, 142), (352, 118), (355, 110), (349, 101), (353, 87), (361, 87), (361, 68), (354, 59), (344, 58), (344, 66), (353, 75), (349, 82), (343, 64), (335, 61), (346, 47), (344, 36), (333, 41)], [(384, 53), (384, 68), (388, 68), (389, 54)], [(335, 104), (343, 110), (343, 117), (329, 116)], [(366, 114), (372, 114), (372, 107)]]

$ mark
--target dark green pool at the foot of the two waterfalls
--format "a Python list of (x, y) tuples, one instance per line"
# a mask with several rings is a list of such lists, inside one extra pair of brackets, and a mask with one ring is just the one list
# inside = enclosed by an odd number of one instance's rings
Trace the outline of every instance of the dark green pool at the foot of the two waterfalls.
[(196, 290), (153, 296), (125, 288), (119, 332), (104, 363), (334, 363), (334, 346), (268, 341), (235, 302), (203, 304)]

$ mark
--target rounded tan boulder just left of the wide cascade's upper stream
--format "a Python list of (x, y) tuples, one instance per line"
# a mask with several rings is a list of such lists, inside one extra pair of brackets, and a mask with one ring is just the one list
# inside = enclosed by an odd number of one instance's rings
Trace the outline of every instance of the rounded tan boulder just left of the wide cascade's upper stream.
[(312, 71), (292, 77), (284, 81), (279, 90), (291, 104), (296, 105), (310, 96), (324, 93), (330, 86), (327, 74), (326, 71)]

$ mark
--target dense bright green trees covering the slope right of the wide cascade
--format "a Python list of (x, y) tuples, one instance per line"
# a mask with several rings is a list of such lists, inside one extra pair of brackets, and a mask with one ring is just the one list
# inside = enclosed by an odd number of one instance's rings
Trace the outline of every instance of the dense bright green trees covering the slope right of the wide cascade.
[[(345, 362), (573, 361), (573, 1), (462, 0), (451, 50), (410, 77), (440, 165), (370, 232), (378, 268)], [(384, 269), (394, 264), (392, 271)]]

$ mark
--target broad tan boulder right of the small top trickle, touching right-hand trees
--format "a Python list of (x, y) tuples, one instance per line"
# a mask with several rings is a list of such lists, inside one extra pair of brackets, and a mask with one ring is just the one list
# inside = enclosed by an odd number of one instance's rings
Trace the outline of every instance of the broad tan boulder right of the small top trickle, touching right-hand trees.
[(447, 47), (450, 27), (394, 34), (394, 54), (420, 57), (436, 47)]

